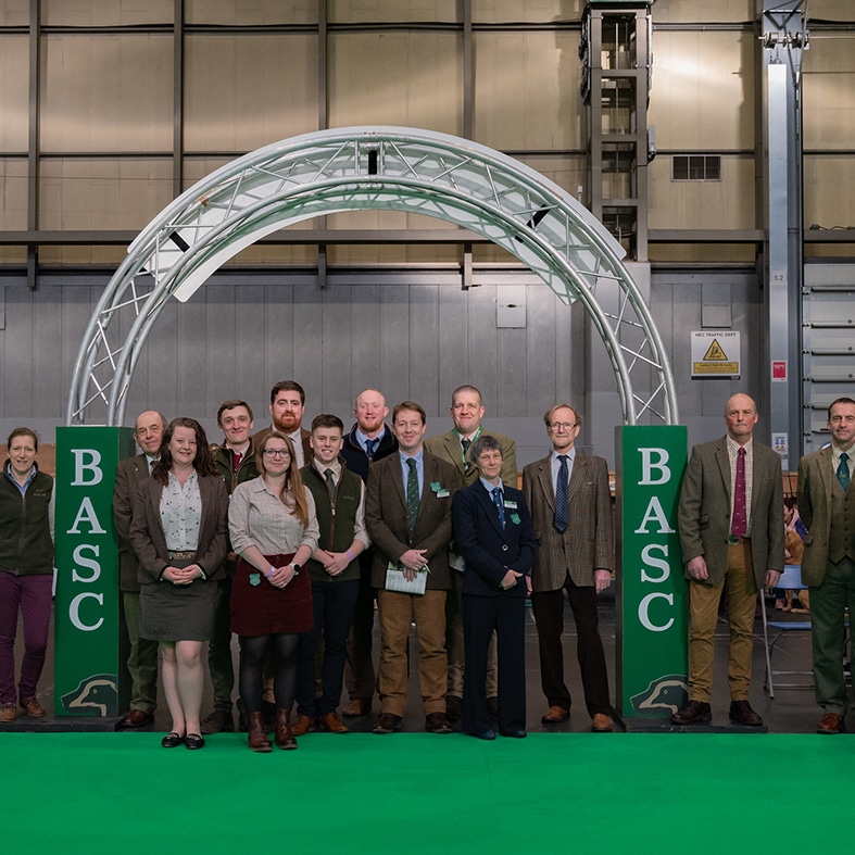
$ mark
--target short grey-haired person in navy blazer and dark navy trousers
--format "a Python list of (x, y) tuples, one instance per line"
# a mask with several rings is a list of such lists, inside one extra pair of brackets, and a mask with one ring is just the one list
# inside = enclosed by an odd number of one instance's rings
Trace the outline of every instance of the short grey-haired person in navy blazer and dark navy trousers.
[(481, 436), (470, 460), (480, 478), (454, 494), (452, 520), (463, 575), (463, 731), (495, 739), (487, 706), (487, 650), (493, 631), (499, 657), (499, 731), (526, 735), (525, 627), (535, 529), (520, 490), (502, 483), (502, 445)]

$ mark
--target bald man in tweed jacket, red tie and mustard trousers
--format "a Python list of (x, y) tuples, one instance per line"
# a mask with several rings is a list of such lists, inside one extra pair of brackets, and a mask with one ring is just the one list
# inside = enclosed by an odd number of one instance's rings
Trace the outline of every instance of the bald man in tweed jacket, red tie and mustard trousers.
[(734, 394), (725, 406), (727, 435), (695, 445), (678, 511), (689, 580), (689, 702), (675, 725), (712, 720), (713, 658), (718, 603), (727, 581), (730, 624), (730, 720), (760, 727), (751, 708), (751, 658), (757, 591), (774, 588), (783, 570), (781, 458), (754, 442), (757, 406)]

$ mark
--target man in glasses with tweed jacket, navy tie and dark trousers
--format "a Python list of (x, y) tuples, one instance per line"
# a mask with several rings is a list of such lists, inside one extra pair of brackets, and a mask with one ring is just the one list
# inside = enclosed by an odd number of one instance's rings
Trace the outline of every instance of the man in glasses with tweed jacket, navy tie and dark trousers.
[(538, 555), (531, 569), (531, 607), (538, 627), (540, 680), (549, 704), (541, 721), (570, 715), (564, 681), (564, 592), (576, 621), (576, 656), (591, 730), (612, 731), (608, 674), (596, 614), (596, 595), (612, 583), (614, 545), (608, 467), (603, 457), (574, 447), (581, 417), (569, 404), (543, 416), (552, 452), (523, 470), (523, 490), (535, 524)]

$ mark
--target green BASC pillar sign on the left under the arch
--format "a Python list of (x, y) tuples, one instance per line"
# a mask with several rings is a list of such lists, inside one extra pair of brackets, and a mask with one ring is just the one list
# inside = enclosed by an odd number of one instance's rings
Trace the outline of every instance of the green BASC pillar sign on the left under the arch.
[(56, 429), (58, 716), (118, 716), (128, 701), (112, 505), (116, 466), (134, 450), (130, 428)]

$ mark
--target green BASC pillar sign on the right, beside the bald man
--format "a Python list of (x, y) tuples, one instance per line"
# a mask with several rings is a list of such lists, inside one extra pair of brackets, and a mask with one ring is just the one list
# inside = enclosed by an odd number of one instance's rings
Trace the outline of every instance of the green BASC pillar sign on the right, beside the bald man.
[(617, 703), (662, 718), (688, 700), (689, 614), (677, 505), (684, 426), (620, 426), (617, 448)]

